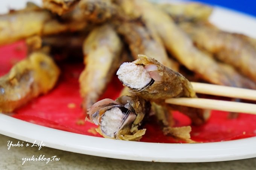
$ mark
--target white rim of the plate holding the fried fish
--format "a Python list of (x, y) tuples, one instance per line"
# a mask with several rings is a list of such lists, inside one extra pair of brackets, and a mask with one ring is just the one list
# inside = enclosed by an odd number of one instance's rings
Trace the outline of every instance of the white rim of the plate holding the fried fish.
[[(222, 29), (256, 38), (256, 19), (248, 15), (216, 7), (210, 21)], [(70, 152), (136, 161), (213, 162), (256, 157), (256, 137), (200, 144), (120, 141), (47, 128), (5, 114), (0, 114), (0, 134), (32, 143), (43, 141), (47, 147)]]

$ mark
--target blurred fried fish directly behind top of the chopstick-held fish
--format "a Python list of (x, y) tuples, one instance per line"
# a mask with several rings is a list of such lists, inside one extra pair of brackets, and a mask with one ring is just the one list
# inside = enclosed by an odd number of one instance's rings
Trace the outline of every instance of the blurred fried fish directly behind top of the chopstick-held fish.
[(146, 56), (154, 57), (168, 68), (178, 71), (178, 63), (168, 57), (158, 35), (143, 26), (142, 22), (122, 22), (117, 30), (129, 44), (134, 59), (137, 59), (138, 54), (145, 54)]

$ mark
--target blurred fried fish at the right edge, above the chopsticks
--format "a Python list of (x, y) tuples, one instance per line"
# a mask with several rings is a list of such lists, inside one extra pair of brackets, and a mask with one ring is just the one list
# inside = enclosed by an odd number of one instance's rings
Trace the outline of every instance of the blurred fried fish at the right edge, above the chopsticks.
[(218, 60), (234, 66), (256, 82), (256, 48), (249, 38), (219, 30), (209, 23), (183, 23), (180, 26), (197, 47), (209, 51)]

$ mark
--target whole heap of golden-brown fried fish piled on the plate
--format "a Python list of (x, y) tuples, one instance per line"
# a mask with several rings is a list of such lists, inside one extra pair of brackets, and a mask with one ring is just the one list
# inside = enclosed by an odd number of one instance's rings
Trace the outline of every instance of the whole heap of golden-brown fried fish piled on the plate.
[[(190, 126), (173, 127), (171, 112), (179, 110), (201, 125), (209, 111), (165, 104), (165, 99), (197, 97), (189, 81), (256, 89), (256, 39), (218, 29), (208, 21), (209, 6), (147, 0), (42, 2), (42, 7), (27, 3), (0, 15), (0, 45), (24, 39), (29, 49), (26, 59), (0, 77), (2, 113), (53, 89), (59, 60), (82, 59), (82, 107), (100, 134), (139, 140), (146, 131), (145, 117), (154, 114), (164, 134), (192, 143)], [(148, 83), (136, 82), (142, 86), (137, 88), (119, 78), (126, 86), (120, 97), (97, 102), (124, 62), (146, 70)]]

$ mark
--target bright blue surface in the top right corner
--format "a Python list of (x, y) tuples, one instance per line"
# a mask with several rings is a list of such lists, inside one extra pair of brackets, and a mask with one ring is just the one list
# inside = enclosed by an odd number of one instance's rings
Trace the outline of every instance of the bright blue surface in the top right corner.
[(230, 8), (256, 17), (256, 0), (195, 0), (209, 5)]

